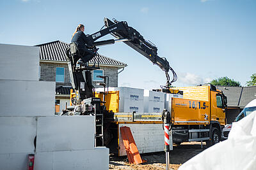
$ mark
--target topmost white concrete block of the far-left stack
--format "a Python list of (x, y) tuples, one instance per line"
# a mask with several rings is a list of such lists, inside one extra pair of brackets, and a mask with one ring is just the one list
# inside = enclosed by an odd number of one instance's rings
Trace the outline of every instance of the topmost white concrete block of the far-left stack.
[(39, 80), (39, 46), (0, 44), (0, 79)]

